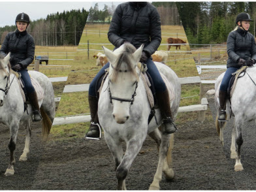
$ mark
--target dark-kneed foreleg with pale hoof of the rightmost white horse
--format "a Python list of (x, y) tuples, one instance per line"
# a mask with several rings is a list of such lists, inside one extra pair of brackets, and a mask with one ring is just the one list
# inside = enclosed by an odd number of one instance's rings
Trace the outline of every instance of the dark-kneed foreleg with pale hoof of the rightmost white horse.
[(237, 144), (237, 151), (236, 151), (236, 164), (234, 165), (235, 171), (244, 170), (242, 163), (241, 163), (241, 147), (243, 144), (242, 138), (242, 120), (235, 120), (236, 125), (236, 144)]

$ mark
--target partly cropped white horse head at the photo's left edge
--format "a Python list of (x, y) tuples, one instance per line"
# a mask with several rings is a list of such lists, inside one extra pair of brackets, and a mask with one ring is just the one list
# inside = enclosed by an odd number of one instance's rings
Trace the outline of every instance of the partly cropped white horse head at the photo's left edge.
[(7, 94), (8, 80), (10, 78), (10, 53), (3, 57), (0, 55), (0, 106), (3, 106), (3, 99)]

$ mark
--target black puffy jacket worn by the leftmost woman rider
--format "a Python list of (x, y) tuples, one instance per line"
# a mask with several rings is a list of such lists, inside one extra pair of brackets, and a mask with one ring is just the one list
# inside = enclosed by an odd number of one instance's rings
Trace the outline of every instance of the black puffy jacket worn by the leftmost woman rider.
[(35, 56), (35, 40), (27, 31), (18, 29), (10, 32), (1, 45), (0, 54), (6, 56), (10, 52), (10, 65), (20, 64), (23, 69), (32, 63)]

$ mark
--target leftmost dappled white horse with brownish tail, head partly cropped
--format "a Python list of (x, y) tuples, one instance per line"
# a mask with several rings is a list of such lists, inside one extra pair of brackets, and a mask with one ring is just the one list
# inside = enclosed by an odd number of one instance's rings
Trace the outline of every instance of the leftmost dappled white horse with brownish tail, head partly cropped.
[[(23, 123), (26, 129), (25, 148), (20, 156), (20, 161), (27, 160), (31, 138), (30, 118), (33, 114), (30, 104), (27, 107), (27, 111), (24, 112), (24, 100), (20, 93), (19, 80), (10, 70), (9, 59), (10, 54), (5, 58), (0, 56), (0, 122), (10, 128), (10, 141), (8, 144), (10, 150), (10, 164), (5, 172), (6, 176), (14, 174), (14, 150), (16, 148), (16, 138), (20, 123)], [(50, 133), (55, 116), (54, 90), (52, 83), (44, 74), (29, 71), (29, 75), (35, 78), (44, 90), (44, 99), (39, 102), (39, 106), (43, 118), (42, 133), (44, 139), (46, 139), (47, 135)]]

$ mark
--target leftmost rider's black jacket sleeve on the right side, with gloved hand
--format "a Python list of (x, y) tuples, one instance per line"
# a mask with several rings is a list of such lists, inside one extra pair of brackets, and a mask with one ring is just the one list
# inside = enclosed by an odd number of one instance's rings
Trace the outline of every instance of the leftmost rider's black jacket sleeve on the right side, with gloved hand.
[(27, 68), (34, 60), (35, 56), (35, 40), (33, 37), (29, 37), (27, 40), (27, 55), (23, 61), (20, 61), (19, 64), (22, 65), (22, 68)]

